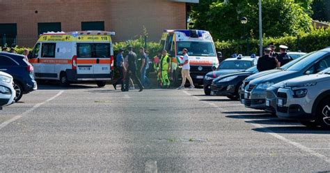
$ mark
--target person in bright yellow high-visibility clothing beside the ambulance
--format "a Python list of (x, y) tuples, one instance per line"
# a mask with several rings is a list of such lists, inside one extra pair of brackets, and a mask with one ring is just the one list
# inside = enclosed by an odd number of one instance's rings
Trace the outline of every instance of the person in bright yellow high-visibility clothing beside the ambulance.
[(159, 71), (162, 77), (162, 87), (169, 88), (171, 82), (168, 74), (171, 73), (171, 58), (168, 57), (166, 50), (163, 50), (162, 52), (162, 59), (159, 61)]

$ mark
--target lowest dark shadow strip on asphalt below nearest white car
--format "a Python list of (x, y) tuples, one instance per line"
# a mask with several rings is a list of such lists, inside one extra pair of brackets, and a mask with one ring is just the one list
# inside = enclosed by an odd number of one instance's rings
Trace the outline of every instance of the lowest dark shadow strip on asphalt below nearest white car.
[(330, 134), (330, 130), (322, 128), (308, 128), (306, 126), (284, 126), (284, 127), (267, 127), (253, 128), (252, 130), (262, 133), (285, 133), (285, 134)]

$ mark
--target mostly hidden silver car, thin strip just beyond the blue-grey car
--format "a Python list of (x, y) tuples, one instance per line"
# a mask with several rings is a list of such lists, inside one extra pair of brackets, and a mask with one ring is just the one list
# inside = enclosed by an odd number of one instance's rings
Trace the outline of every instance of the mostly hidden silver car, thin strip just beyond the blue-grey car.
[[(246, 89), (246, 86), (249, 84), (249, 82), (251, 82), (251, 80), (256, 80), (258, 77), (262, 77), (265, 75), (274, 74), (274, 73), (278, 73), (283, 70), (286, 70), (290, 66), (292, 66), (294, 63), (297, 63), (298, 61), (300, 61), (301, 59), (304, 59), (305, 57), (306, 57), (306, 54), (304, 53), (304, 56), (301, 56), (297, 59), (294, 59), (293, 61), (290, 61), (289, 63), (286, 63), (284, 66), (281, 66), (281, 68), (262, 71), (260, 73), (256, 73), (254, 75), (250, 75), (249, 77), (246, 77), (246, 79), (242, 82), (243, 83), (242, 87), (240, 87), (242, 90), (239, 91), (239, 99), (241, 100), (241, 103), (244, 105), (244, 90)], [(276, 103), (274, 103), (274, 104), (276, 104)]]

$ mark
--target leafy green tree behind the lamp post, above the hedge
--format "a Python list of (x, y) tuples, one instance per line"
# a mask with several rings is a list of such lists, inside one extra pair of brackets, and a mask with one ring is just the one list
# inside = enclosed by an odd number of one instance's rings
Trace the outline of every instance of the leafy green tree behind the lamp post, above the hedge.
[[(301, 0), (302, 1), (302, 0)], [(294, 0), (262, 0), (262, 22), (265, 36), (278, 37), (307, 32), (311, 27), (303, 3)], [(191, 8), (191, 19), (196, 29), (209, 30), (214, 38), (231, 40), (242, 38), (240, 18), (249, 22), (249, 36), (258, 38), (258, 0), (204, 0)]]

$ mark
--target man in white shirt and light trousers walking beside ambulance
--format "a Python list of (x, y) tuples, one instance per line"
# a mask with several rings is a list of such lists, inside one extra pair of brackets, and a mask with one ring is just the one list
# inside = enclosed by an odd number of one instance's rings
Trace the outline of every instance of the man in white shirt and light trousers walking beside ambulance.
[(183, 62), (180, 63), (179, 66), (182, 66), (181, 74), (182, 74), (182, 84), (178, 89), (184, 89), (184, 84), (186, 84), (186, 80), (189, 80), (190, 87), (189, 89), (194, 89), (194, 82), (192, 81), (190, 77), (190, 64), (189, 64), (189, 56), (187, 54), (188, 50), (183, 49), (182, 54), (183, 54)]

